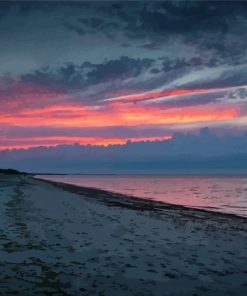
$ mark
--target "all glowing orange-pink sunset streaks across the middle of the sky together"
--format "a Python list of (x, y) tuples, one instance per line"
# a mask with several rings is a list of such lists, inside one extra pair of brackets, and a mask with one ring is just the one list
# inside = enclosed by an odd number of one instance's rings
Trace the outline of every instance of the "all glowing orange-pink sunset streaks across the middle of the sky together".
[[(203, 90), (174, 90), (169, 91), (166, 95), (171, 94), (174, 98), (178, 98), (181, 94), (189, 93), (200, 93)], [(30, 94), (29, 94), (30, 95)], [(165, 93), (162, 94), (164, 96)], [(138, 96), (128, 96), (131, 98), (137, 98)], [(153, 95), (153, 97), (156, 97)], [(31, 98), (31, 96), (30, 96)], [(29, 98), (29, 101), (30, 101)], [(140, 98), (140, 97), (138, 97)], [(142, 96), (142, 99), (144, 97)], [(150, 98), (150, 96), (149, 96)], [(54, 99), (54, 97), (53, 97)], [(44, 100), (41, 98), (40, 101)], [(48, 98), (45, 98), (47, 101)], [(53, 101), (51, 99), (51, 101)], [(69, 135), (66, 132), (67, 128), (98, 128), (98, 127), (138, 127), (142, 126), (153, 126), (153, 125), (183, 125), (183, 124), (197, 124), (197, 123), (217, 123), (222, 121), (229, 121), (238, 118), (240, 116), (240, 109), (234, 105), (207, 105), (201, 108), (200, 106), (188, 106), (184, 108), (172, 107), (167, 108), (166, 106), (149, 104), (145, 105), (141, 102), (138, 104), (124, 104), (122, 101), (116, 101), (112, 104), (109, 101), (108, 104), (97, 106), (81, 105), (75, 103), (57, 103), (49, 104), (42, 107), (36, 107), (35, 100), (31, 101), (32, 104), (25, 105), (24, 108), (20, 108), (16, 112), (16, 108), (10, 108), (9, 104), (6, 106), (6, 111), (3, 109), (0, 111), (0, 124), (2, 126), (23, 127), (28, 128), (39, 128), (42, 131), (42, 127), (62, 127), (64, 128), (64, 135), (51, 134), (50, 136), (31, 136), (16, 134), (13, 136), (3, 135), (2, 144), (0, 149), (11, 149), (11, 148), (27, 148), (34, 146), (54, 146), (60, 144), (91, 144), (91, 145), (109, 145), (109, 144), (124, 144), (127, 140), (132, 141), (155, 141), (160, 139), (168, 139), (171, 137), (170, 134), (164, 132), (163, 135), (159, 136), (130, 136), (130, 137), (114, 137), (107, 134), (97, 137), (88, 135)], [(44, 102), (44, 101), (43, 101)]]

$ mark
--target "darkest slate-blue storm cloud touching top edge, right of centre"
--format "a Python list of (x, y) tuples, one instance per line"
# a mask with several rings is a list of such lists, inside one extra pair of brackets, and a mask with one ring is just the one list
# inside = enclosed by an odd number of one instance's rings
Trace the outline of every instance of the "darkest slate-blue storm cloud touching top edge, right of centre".
[[(228, 5), (215, 5), (212, 2), (162, 2), (145, 7), (140, 12), (140, 25), (137, 30), (152, 35), (190, 35), (198, 31), (225, 33), (227, 25), (224, 18), (233, 12)], [(137, 37), (135, 31), (133, 37)]]

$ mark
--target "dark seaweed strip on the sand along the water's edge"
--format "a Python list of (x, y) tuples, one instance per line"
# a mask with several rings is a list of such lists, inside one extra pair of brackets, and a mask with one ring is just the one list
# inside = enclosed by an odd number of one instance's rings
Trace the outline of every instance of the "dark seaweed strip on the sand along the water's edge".
[(129, 208), (139, 211), (151, 211), (156, 213), (168, 213), (193, 216), (194, 218), (206, 219), (206, 218), (222, 218), (222, 219), (236, 219), (242, 222), (247, 222), (247, 217), (240, 216), (232, 213), (224, 213), (218, 211), (211, 211), (202, 208), (193, 208), (189, 206), (183, 206), (178, 204), (166, 203), (163, 201), (156, 201), (152, 199), (146, 199), (142, 197), (136, 197), (132, 195), (121, 194), (113, 191), (103, 190), (94, 187), (84, 187), (64, 182), (56, 182), (38, 177), (33, 177), (35, 180), (52, 184), (65, 191), (82, 195), (91, 200), (103, 202), (109, 206)]

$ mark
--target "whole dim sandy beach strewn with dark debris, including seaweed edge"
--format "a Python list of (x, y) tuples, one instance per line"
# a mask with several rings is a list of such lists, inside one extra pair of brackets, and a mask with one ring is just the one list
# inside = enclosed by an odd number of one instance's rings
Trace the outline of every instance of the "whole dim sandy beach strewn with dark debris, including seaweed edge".
[(0, 295), (246, 295), (247, 220), (0, 175)]

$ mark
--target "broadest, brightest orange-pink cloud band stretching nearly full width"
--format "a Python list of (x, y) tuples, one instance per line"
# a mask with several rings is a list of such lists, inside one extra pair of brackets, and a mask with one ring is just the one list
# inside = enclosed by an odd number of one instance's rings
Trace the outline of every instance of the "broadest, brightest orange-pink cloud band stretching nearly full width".
[(16, 114), (0, 113), (0, 124), (17, 126), (136, 126), (152, 124), (183, 124), (222, 121), (236, 118), (238, 108), (231, 106), (204, 106), (164, 110), (157, 106), (111, 106), (99, 110), (75, 105), (61, 105), (20, 111)]

